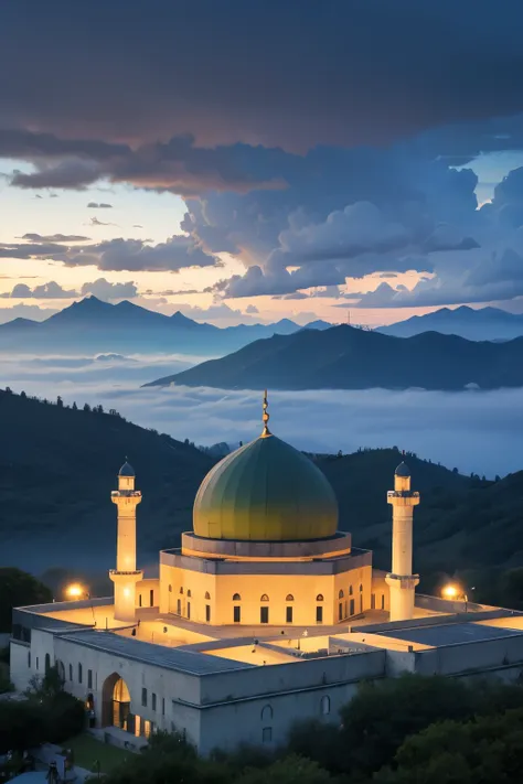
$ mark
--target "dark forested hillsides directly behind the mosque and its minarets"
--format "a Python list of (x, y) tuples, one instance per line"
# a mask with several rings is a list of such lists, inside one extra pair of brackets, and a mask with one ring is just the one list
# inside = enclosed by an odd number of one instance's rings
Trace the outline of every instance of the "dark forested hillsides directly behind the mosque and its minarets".
[[(143, 501), (139, 560), (158, 565), (192, 525), (198, 487), (215, 462), (192, 444), (146, 430), (115, 414), (75, 410), (0, 390), (0, 537), (2, 565), (32, 571), (66, 567), (100, 574), (115, 557), (110, 491), (129, 459)], [(257, 433), (253, 433), (255, 437)], [(396, 448), (314, 458), (332, 484), (340, 528), (391, 562), (391, 490), (403, 460)], [(523, 566), (523, 472), (497, 482), (463, 476), (414, 454), (405, 458), (421, 493), (415, 513), (415, 565), (429, 570)], [(476, 577), (474, 577), (476, 579)], [(472, 584), (478, 586), (478, 582)]]

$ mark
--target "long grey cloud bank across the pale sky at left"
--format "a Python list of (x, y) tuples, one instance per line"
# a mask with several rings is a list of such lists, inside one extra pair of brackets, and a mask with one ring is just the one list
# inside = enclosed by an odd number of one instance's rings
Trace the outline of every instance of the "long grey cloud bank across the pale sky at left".
[(61, 261), (67, 267), (95, 266), (104, 271), (178, 272), (190, 267), (222, 266), (214, 256), (205, 254), (192, 237), (183, 235), (170, 237), (158, 245), (122, 238), (81, 247), (45, 241), (0, 244), (0, 258)]

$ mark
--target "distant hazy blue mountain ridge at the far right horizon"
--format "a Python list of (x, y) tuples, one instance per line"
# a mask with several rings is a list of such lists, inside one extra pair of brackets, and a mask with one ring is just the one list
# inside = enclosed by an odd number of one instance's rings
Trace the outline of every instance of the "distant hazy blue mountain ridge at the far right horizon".
[(440, 308), (433, 313), (381, 326), (378, 332), (396, 337), (440, 332), (469, 341), (510, 341), (523, 335), (523, 314), (509, 313), (500, 308)]

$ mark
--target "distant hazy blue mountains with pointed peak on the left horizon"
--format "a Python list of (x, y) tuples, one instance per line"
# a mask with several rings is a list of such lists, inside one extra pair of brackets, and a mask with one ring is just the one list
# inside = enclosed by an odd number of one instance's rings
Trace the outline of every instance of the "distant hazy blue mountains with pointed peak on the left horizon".
[[(328, 329), (316, 321), (311, 329)], [(274, 334), (302, 326), (289, 319), (274, 324), (218, 327), (188, 319), (178, 311), (164, 315), (124, 300), (110, 304), (87, 297), (36, 322), (14, 319), (0, 325), (0, 351), (22, 353), (173, 353), (218, 356)]]

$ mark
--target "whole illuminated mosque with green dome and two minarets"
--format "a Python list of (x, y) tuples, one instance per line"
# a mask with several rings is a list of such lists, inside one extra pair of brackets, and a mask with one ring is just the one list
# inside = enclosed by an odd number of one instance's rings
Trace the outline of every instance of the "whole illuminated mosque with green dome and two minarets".
[(523, 614), (416, 593), (413, 513), (419, 493), (401, 463), (392, 506), (392, 566), (352, 545), (319, 468), (273, 434), (267, 396), (258, 438), (202, 482), (193, 530), (162, 550), (158, 578), (136, 562), (135, 471), (117, 508), (114, 597), (13, 610), (11, 679), (23, 690), (57, 666), (85, 701), (92, 731), (139, 748), (154, 730), (183, 731), (201, 753), (277, 745), (303, 718), (338, 720), (362, 680), (403, 672), (516, 678)]

